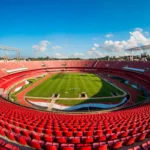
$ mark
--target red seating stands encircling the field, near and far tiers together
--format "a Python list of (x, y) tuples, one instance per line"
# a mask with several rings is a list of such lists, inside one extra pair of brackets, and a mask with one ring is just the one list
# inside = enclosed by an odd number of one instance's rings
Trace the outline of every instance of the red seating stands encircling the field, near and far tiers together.
[[(123, 69), (124, 66), (147, 68), (147, 71), (127, 71)], [(6, 71), (23, 67), (28, 68), (28, 71), (11, 75)], [(150, 93), (149, 62), (92, 60), (0, 62), (0, 88), (8, 89), (25, 78), (47, 72), (47, 69), (64, 67), (94, 67), (97, 69), (96, 73), (108, 80), (111, 79), (106, 77), (106, 73), (121, 76), (137, 82)], [(129, 87), (126, 90), (134, 93)], [(150, 102), (106, 113), (62, 114), (19, 106), (1, 97), (0, 110), (0, 136), (3, 138), (0, 139), (1, 150), (150, 149)]]

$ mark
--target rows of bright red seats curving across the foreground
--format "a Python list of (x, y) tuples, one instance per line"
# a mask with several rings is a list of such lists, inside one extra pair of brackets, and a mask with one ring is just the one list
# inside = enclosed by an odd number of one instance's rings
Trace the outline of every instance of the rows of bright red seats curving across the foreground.
[(150, 138), (150, 103), (116, 112), (75, 115), (33, 110), (0, 98), (0, 110), (0, 136), (26, 148), (118, 149)]

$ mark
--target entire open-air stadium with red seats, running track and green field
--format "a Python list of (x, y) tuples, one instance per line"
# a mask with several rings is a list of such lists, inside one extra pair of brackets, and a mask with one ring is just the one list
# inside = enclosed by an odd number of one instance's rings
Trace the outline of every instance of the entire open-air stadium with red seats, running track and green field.
[(0, 66), (1, 149), (149, 149), (149, 62)]

